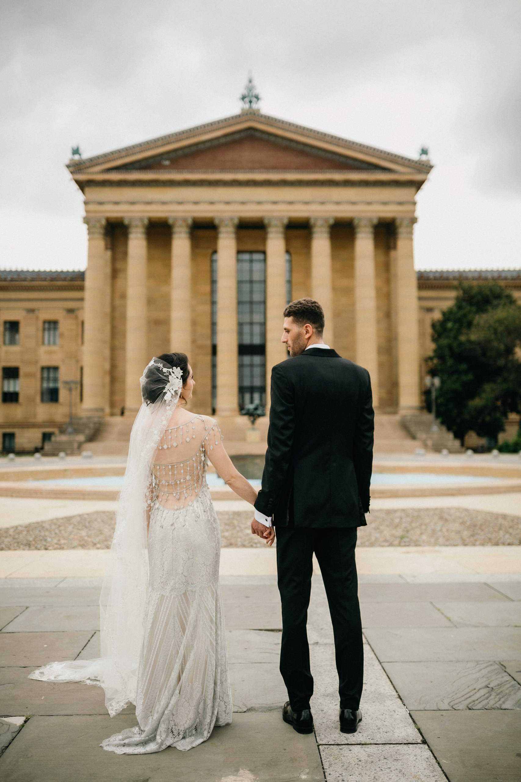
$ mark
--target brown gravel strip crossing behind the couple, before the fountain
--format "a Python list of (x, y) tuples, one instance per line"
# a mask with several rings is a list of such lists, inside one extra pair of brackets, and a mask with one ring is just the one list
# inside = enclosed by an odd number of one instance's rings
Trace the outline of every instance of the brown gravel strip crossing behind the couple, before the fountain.
[[(266, 546), (252, 535), (251, 511), (219, 511), (223, 547)], [(0, 551), (110, 548), (113, 511), (97, 511), (2, 529)], [(521, 517), (467, 508), (373, 511), (359, 546), (519, 546)]]

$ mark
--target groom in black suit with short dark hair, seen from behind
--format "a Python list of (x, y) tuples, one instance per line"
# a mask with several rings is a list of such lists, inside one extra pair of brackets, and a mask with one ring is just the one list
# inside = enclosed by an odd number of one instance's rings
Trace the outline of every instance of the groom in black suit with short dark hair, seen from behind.
[[(355, 733), (362, 714), (362, 623), (355, 565), (356, 528), (366, 525), (374, 413), (369, 372), (323, 343), (317, 301), (284, 310), (291, 361), (273, 367), (268, 450), (252, 533), (273, 542), (282, 602), (280, 673), (289, 701), (283, 719), (313, 730), (313, 679), (306, 633), (312, 555), (333, 622), (340, 730)], [(268, 529), (266, 529), (268, 528)]]

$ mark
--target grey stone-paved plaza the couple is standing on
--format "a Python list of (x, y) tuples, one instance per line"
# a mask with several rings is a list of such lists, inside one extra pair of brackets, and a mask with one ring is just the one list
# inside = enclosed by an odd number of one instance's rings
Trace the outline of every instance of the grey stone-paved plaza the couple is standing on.
[[(226, 550), (225, 550), (226, 551)], [(448, 580), (448, 578), (452, 580)], [(489, 782), (521, 779), (521, 580), (361, 576), (363, 720), (337, 723), (333, 635), (313, 576), (309, 641), (315, 734), (283, 723), (280, 601), (274, 576), (222, 576), (234, 722), (183, 753), (121, 756), (100, 741), (135, 724), (109, 719), (99, 687), (27, 679), (39, 665), (98, 655), (95, 578), (0, 579), (5, 782)], [(409, 711), (408, 711), (409, 709)], [(30, 716), (16, 733), (16, 724)]]

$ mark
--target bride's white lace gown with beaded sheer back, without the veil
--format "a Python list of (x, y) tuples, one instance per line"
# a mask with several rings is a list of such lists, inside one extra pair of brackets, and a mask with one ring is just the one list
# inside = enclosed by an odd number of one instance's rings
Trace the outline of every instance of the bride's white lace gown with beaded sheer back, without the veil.
[[(166, 429), (150, 484), (149, 583), (137, 678), (138, 726), (102, 742), (141, 755), (187, 750), (231, 722), (219, 587), (220, 529), (205, 480), (216, 422), (194, 416)], [(194, 450), (197, 449), (197, 450)], [(180, 461), (173, 461), (180, 457)]]

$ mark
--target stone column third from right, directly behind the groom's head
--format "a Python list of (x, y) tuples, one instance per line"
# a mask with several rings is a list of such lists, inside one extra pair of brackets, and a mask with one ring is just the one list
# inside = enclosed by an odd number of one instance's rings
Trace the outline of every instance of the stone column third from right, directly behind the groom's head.
[(331, 269), (330, 228), (333, 217), (310, 217), (311, 226), (311, 297), (320, 304), (326, 318), (324, 342), (334, 347), (333, 273)]

